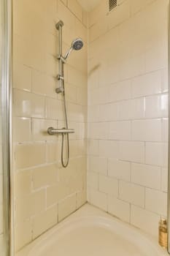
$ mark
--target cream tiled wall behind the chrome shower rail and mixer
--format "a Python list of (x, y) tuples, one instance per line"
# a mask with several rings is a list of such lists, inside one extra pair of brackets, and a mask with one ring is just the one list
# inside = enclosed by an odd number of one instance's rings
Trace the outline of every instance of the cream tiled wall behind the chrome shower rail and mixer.
[[(73, 39), (82, 37), (84, 41), (82, 50), (74, 51), (64, 66), (69, 127), (75, 129), (70, 136), (71, 156), (66, 169), (61, 167), (61, 137), (47, 135), (48, 127), (64, 125), (63, 98), (55, 93), (58, 74), (55, 23), (60, 19), (64, 23), (63, 53)], [(14, 0), (13, 21), (15, 250), (18, 251), (86, 202), (88, 24), (87, 14), (76, 0)]]

